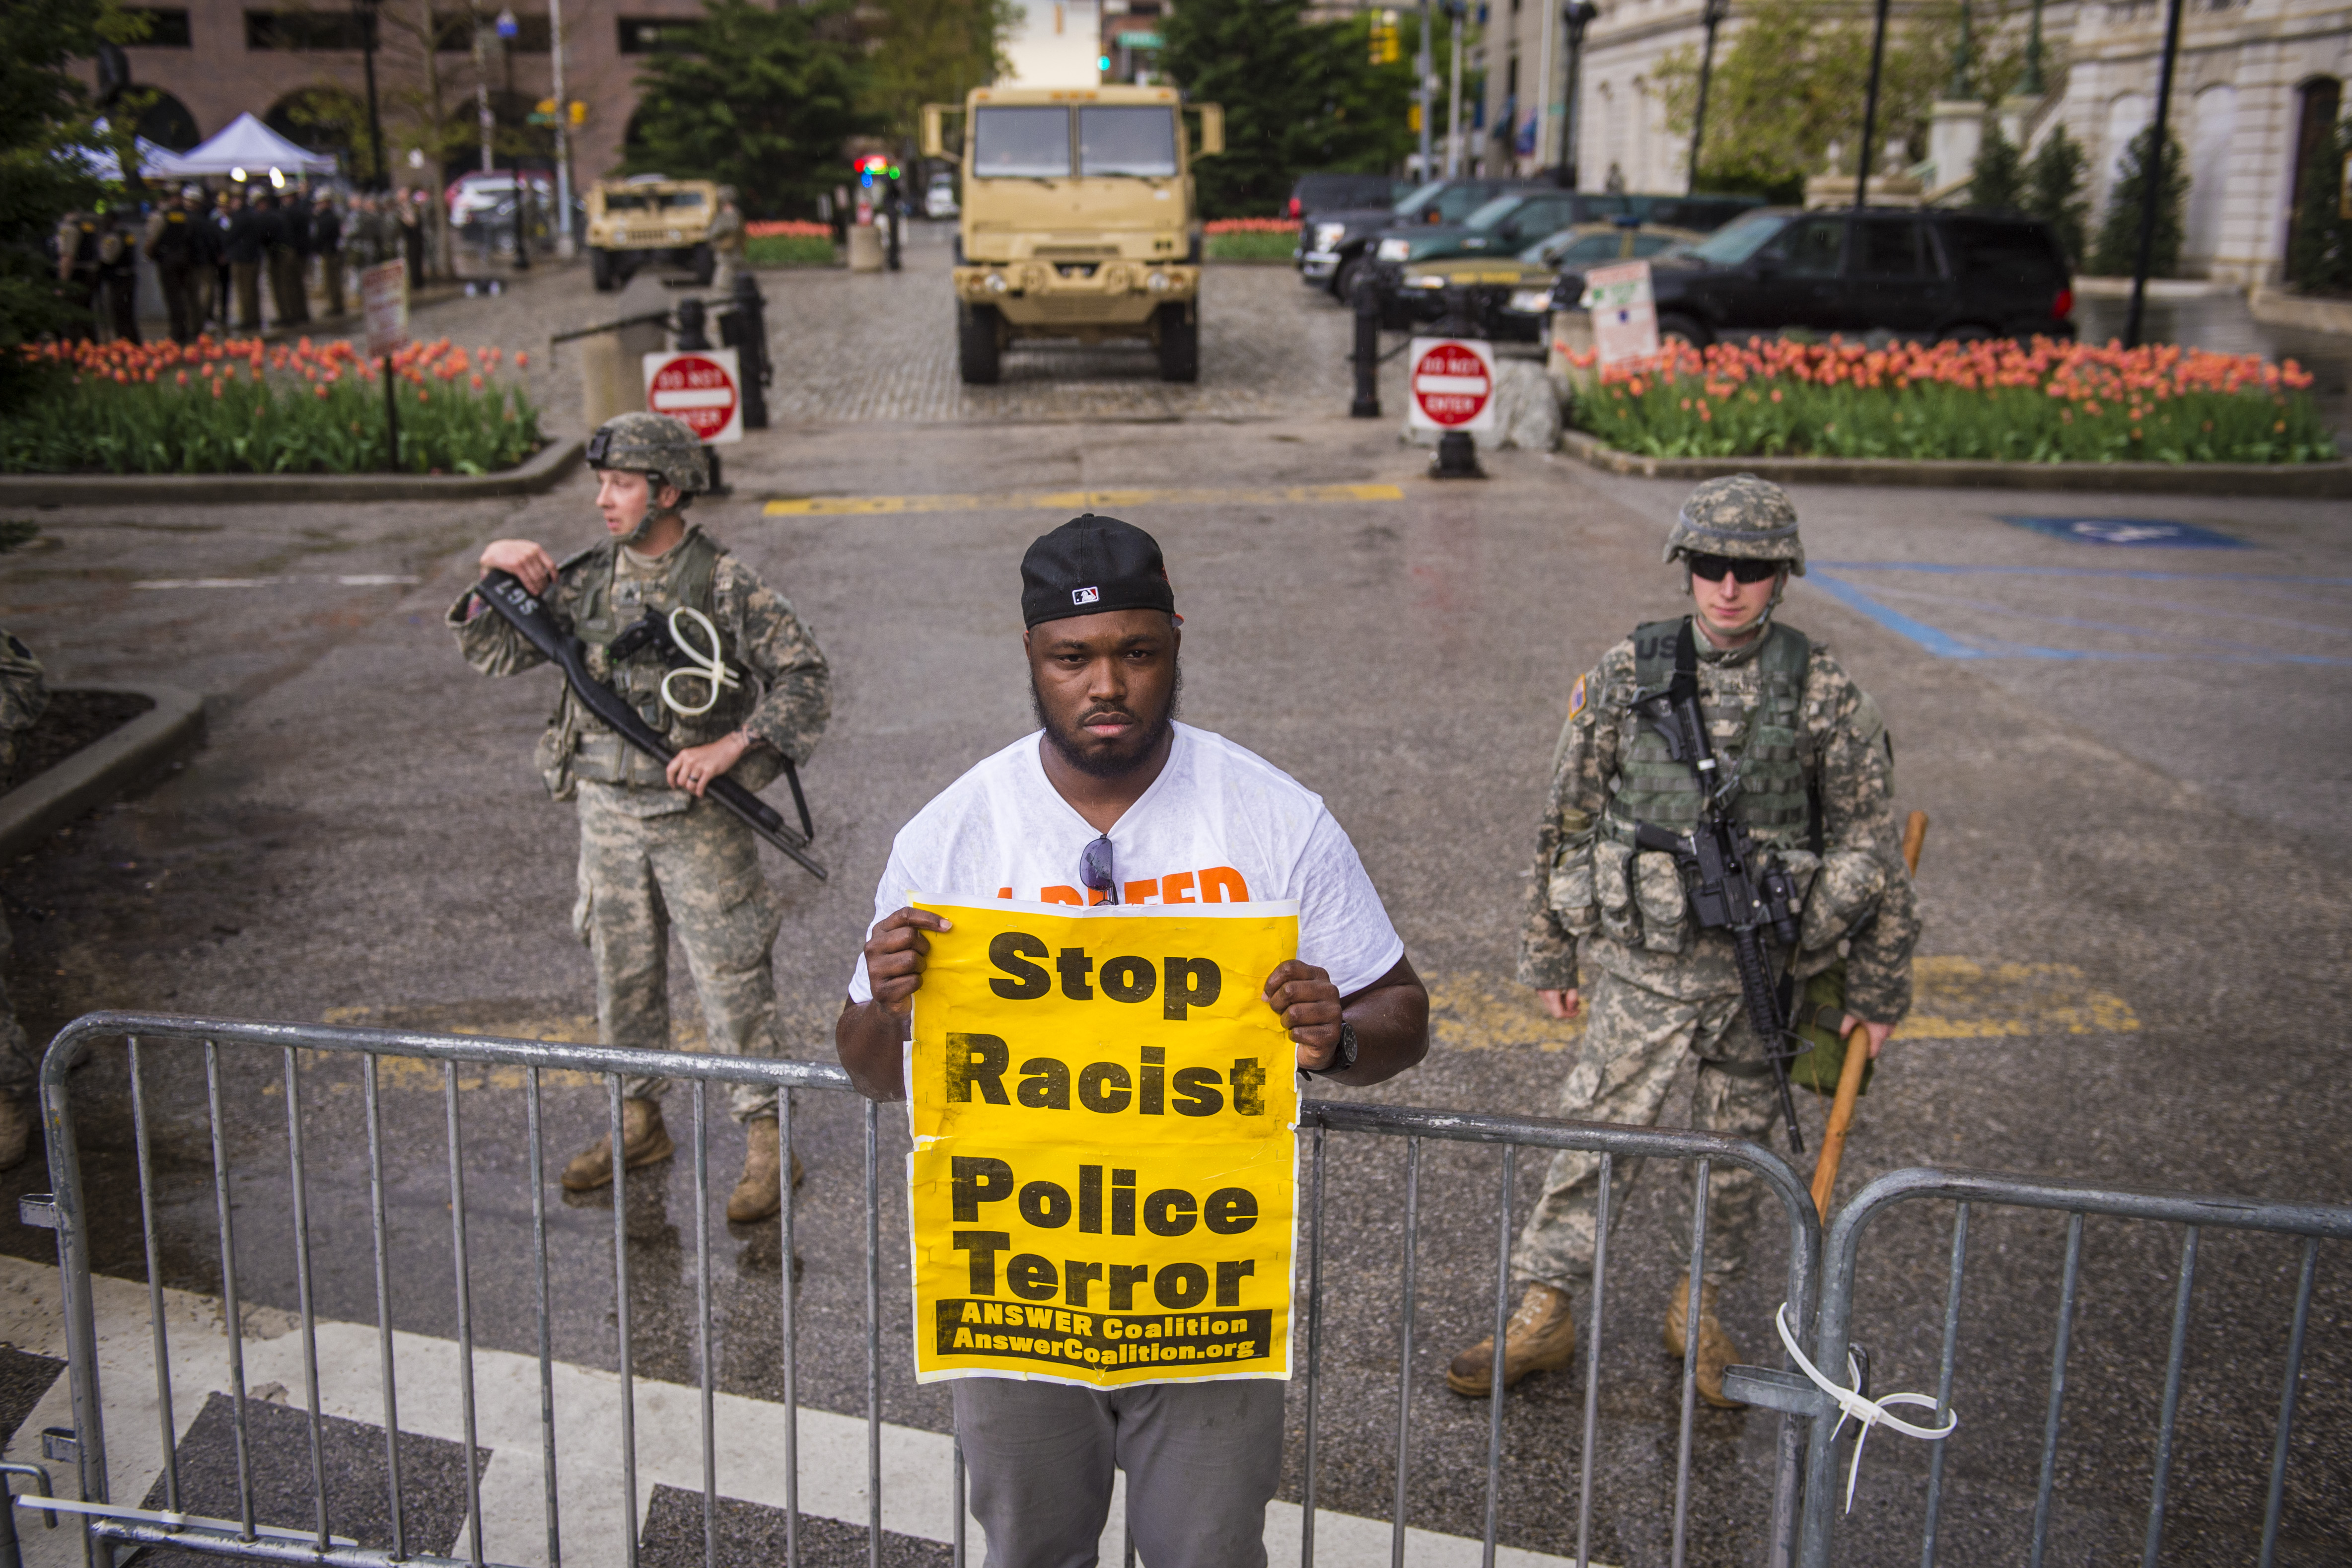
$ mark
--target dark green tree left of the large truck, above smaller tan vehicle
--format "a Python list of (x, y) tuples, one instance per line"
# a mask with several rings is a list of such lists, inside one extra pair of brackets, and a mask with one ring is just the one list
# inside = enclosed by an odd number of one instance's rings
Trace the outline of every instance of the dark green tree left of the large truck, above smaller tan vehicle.
[(694, 42), (649, 56), (637, 85), (623, 167), (734, 186), (750, 219), (807, 214), (849, 176), (842, 143), (880, 129), (851, 0), (703, 0)]

